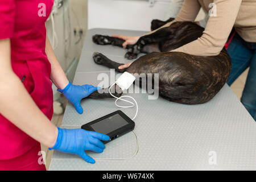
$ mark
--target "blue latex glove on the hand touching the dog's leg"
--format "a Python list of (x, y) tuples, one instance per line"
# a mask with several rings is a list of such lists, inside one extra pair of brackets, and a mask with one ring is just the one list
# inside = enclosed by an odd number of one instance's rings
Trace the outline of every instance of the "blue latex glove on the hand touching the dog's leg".
[(57, 91), (64, 94), (64, 96), (75, 106), (77, 113), (82, 114), (81, 100), (88, 97), (94, 91), (101, 89), (92, 85), (73, 85), (71, 82), (63, 89)]

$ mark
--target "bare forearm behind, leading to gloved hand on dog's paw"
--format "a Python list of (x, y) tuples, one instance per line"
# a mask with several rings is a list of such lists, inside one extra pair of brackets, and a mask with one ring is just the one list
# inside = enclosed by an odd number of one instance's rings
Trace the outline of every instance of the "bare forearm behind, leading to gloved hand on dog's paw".
[(57, 60), (57, 57), (55, 56), (55, 53), (52, 49), (52, 46), (48, 38), (46, 38), (46, 55), (52, 67), (52, 72), (51, 72), (52, 82), (55, 84), (57, 88), (64, 89), (65, 86), (68, 85), (69, 81), (63, 69), (61, 68), (59, 61)]

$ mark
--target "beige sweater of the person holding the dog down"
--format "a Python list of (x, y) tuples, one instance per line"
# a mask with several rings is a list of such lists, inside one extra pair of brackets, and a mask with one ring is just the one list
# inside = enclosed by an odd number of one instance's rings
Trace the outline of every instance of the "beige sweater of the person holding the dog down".
[(201, 6), (207, 12), (212, 9), (210, 3), (216, 5), (216, 16), (210, 16), (201, 38), (173, 51), (199, 56), (218, 55), (233, 26), (244, 40), (256, 42), (256, 0), (185, 0), (180, 13), (171, 23), (194, 21)]

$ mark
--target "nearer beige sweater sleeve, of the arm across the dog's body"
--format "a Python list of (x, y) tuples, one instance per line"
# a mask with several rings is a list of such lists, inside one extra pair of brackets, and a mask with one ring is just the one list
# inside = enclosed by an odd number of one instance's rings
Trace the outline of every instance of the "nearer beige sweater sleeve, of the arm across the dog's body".
[(199, 39), (172, 51), (198, 56), (218, 55), (232, 31), (241, 2), (242, 0), (214, 0), (216, 16), (214, 14), (210, 16), (203, 35)]

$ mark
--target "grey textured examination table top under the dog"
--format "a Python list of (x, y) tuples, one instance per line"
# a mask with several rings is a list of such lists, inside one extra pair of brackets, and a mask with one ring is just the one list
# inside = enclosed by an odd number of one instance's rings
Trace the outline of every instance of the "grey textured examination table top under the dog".
[[(93, 52), (104, 53), (119, 63), (129, 63), (124, 58), (125, 49), (96, 45), (92, 42), (94, 34), (134, 36), (143, 33), (89, 30), (73, 83), (97, 86), (102, 82), (97, 80), (100, 73), (110, 75), (109, 68), (94, 63)], [(102, 154), (87, 152), (96, 159), (95, 164), (86, 163), (76, 155), (54, 151), (49, 170), (256, 170), (256, 123), (228, 85), (201, 105), (176, 104), (161, 97), (148, 100), (146, 93), (128, 95), (139, 105), (134, 119), (136, 135), (130, 132), (113, 140), (106, 144)], [(114, 101), (114, 98), (82, 100), (83, 114), (78, 114), (68, 103), (61, 127), (80, 128), (120, 109)], [(120, 110), (133, 118), (136, 108)]]

